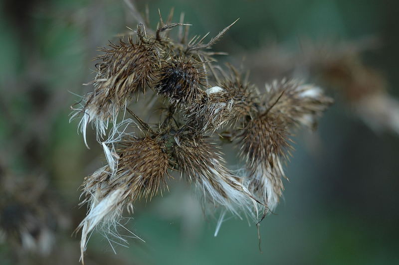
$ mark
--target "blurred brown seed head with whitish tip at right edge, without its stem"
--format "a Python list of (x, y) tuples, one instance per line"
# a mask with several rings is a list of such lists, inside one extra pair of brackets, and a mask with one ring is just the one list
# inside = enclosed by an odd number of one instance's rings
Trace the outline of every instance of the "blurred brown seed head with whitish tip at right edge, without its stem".
[(399, 134), (399, 100), (389, 94), (386, 79), (362, 61), (359, 48), (342, 46), (334, 57), (319, 59), (314, 66), (317, 72), (341, 92), (349, 108), (372, 130)]

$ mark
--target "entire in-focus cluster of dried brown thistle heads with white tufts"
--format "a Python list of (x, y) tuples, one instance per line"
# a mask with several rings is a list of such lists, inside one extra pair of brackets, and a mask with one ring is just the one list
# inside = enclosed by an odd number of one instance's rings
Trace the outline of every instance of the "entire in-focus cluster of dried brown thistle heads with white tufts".
[[(226, 212), (258, 223), (282, 196), (292, 132), (315, 129), (332, 103), (317, 86), (283, 79), (258, 88), (241, 70), (218, 64), (221, 53), (210, 48), (237, 20), (206, 42), (207, 34), (188, 39), (189, 25), (172, 17), (160, 14), (156, 30), (140, 23), (127, 40), (103, 48), (93, 91), (72, 106), (84, 142), (91, 124), (107, 161), (82, 185), (82, 262), (95, 229), (125, 241), (117, 233), (124, 210), (132, 214), (137, 200), (168, 190), (174, 171), (202, 191), (207, 210), (220, 212), (216, 230)], [(175, 27), (184, 29), (177, 38)], [(135, 113), (142, 102), (155, 122)], [(228, 168), (221, 140), (235, 148), (241, 170)]]

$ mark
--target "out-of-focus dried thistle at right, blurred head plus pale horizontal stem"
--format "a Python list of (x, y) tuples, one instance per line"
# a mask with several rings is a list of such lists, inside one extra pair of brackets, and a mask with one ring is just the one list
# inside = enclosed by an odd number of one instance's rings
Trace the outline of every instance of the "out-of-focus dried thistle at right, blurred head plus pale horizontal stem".
[(322, 43), (302, 40), (300, 51), (293, 53), (283, 44), (264, 47), (245, 54), (255, 75), (271, 80), (295, 74), (317, 80), (339, 92), (348, 109), (377, 133), (399, 133), (399, 100), (390, 95), (388, 80), (362, 60), (362, 53), (380, 46), (376, 37), (357, 41), (329, 40)]

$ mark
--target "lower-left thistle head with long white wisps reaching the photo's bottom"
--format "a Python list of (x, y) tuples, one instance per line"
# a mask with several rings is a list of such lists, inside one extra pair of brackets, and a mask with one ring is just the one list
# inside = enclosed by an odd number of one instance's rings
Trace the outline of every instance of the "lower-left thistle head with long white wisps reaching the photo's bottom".
[(117, 169), (109, 166), (97, 170), (83, 184), (83, 203), (89, 203), (89, 212), (81, 222), (81, 255), (86, 249), (87, 236), (98, 225), (115, 235), (124, 208), (133, 211), (137, 199), (151, 199), (165, 184), (169, 160), (157, 139), (150, 136), (125, 139), (120, 143), (116, 156)]

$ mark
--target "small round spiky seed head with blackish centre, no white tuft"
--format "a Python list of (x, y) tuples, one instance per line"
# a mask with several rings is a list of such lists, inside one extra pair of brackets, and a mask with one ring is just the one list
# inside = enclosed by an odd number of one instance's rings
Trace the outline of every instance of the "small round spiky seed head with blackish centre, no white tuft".
[(191, 104), (203, 94), (201, 81), (205, 78), (203, 64), (193, 58), (177, 58), (164, 62), (157, 74), (155, 89), (174, 105)]

